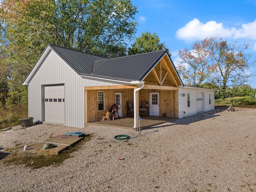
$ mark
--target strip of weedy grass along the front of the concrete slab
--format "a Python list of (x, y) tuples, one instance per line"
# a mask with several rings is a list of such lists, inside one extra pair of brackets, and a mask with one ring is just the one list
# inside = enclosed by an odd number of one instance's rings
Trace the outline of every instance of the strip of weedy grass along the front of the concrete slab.
[(58, 166), (60, 165), (64, 160), (72, 158), (72, 152), (78, 150), (81, 148), (84, 144), (84, 142), (90, 140), (92, 138), (92, 134), (89, 136), (86, 136), (73, 146), (70, 146), (67, 148), (67, 150), (64, 150), (59, 155), (48, 155), (48, 156), (35, 156), (35, 157), (17, 157), (17, 154), (11, 154), (10, 156), (4, 158), (2, 162), (6, 165), (11, 164), (25, 164), (28, 167), (31, 167), (33, 169), (38, 169), (45, 166)]

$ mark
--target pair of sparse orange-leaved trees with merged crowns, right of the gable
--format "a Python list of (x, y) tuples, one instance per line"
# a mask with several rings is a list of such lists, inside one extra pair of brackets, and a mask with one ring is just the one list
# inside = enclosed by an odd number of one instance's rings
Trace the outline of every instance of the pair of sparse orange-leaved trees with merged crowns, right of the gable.
[(220, 89), (224, 99), (227, 87), (244, 85), (254, 75), (249, 70), (256, 61), (250, 59), (248, 47), (222, 38), (198, 40), (190, 50), (179, 51), (183, 62), (177, 68), (188, 85), (210, 82)]

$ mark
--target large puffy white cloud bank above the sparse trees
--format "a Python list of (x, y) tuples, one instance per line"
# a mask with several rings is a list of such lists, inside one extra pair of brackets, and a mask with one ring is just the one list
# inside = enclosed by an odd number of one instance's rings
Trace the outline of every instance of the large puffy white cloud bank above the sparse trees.
[(188, 22), (184, 27), (176, 31), (176, 36), (186, 42), (206, 37), (222, 37), (222, 38), (248, 38), (256, 39), (256, 20), (247, 24), (242, 24), (241, 28), (228, 28), (222, 23), (216, 21), (200, 22), (197, 18)]

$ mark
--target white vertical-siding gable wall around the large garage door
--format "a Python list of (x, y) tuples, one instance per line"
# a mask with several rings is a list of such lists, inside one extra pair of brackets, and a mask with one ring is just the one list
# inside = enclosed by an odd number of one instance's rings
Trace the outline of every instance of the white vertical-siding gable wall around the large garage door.
[(28, 116), (34, 117), (35, 121), (45, 121), (45, 87), (64, 86), (64, 125), (83, 128), (84, 87), (99, 85), (115, 84), (82, 78), (58, 54), (51, 51), (28, 84)]

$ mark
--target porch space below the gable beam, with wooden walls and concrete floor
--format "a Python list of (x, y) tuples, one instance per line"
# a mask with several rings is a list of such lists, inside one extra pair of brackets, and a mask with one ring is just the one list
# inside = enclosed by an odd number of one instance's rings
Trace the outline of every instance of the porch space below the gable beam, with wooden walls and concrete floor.
[[(119, 127), (138, 128), (138, 116), (143, 119), (144, 126), (160, 124), (168, 120), (178, 118), (178, 88), (173, 86), (156, 86), (156, 85), (134, 86), (95, 86), (85, 87), (85, 124), (109, 124), (114, 126), (116, 120), (112, 122), (100, 121), (110, 107), (115, 103), (118, 105), (118, 115), (121, 117)], [(98, 110), (99, 93), (103, 93), (104, 110)], [(156, 96), (157, 95), (157, 96)], [(118, 96), (118, 97), (117, 97)], [(103, 98), (102, 97), (102, 98)], [(154, 100), (153, 100), (154, 99)], [(140, 106), (142, 101), (147, 102), (146, 116), (142, 116)], [(134, 114), (128, 114), (128, 101), (134, 105)], [(156, 106), (156, 113), (152, 113), (152, 103)], [(145, 115), (145, 114), (144, 114)], [(128, 118), (128, 116), (130, 118)], [(165, 116), (165, 117), (163, 117)], [(120, 119), (118, 119), (120, 120)], [(135, 122), (136, 121), (136, 122)], [(122, 126), (124, 124), (124, 126)]]

